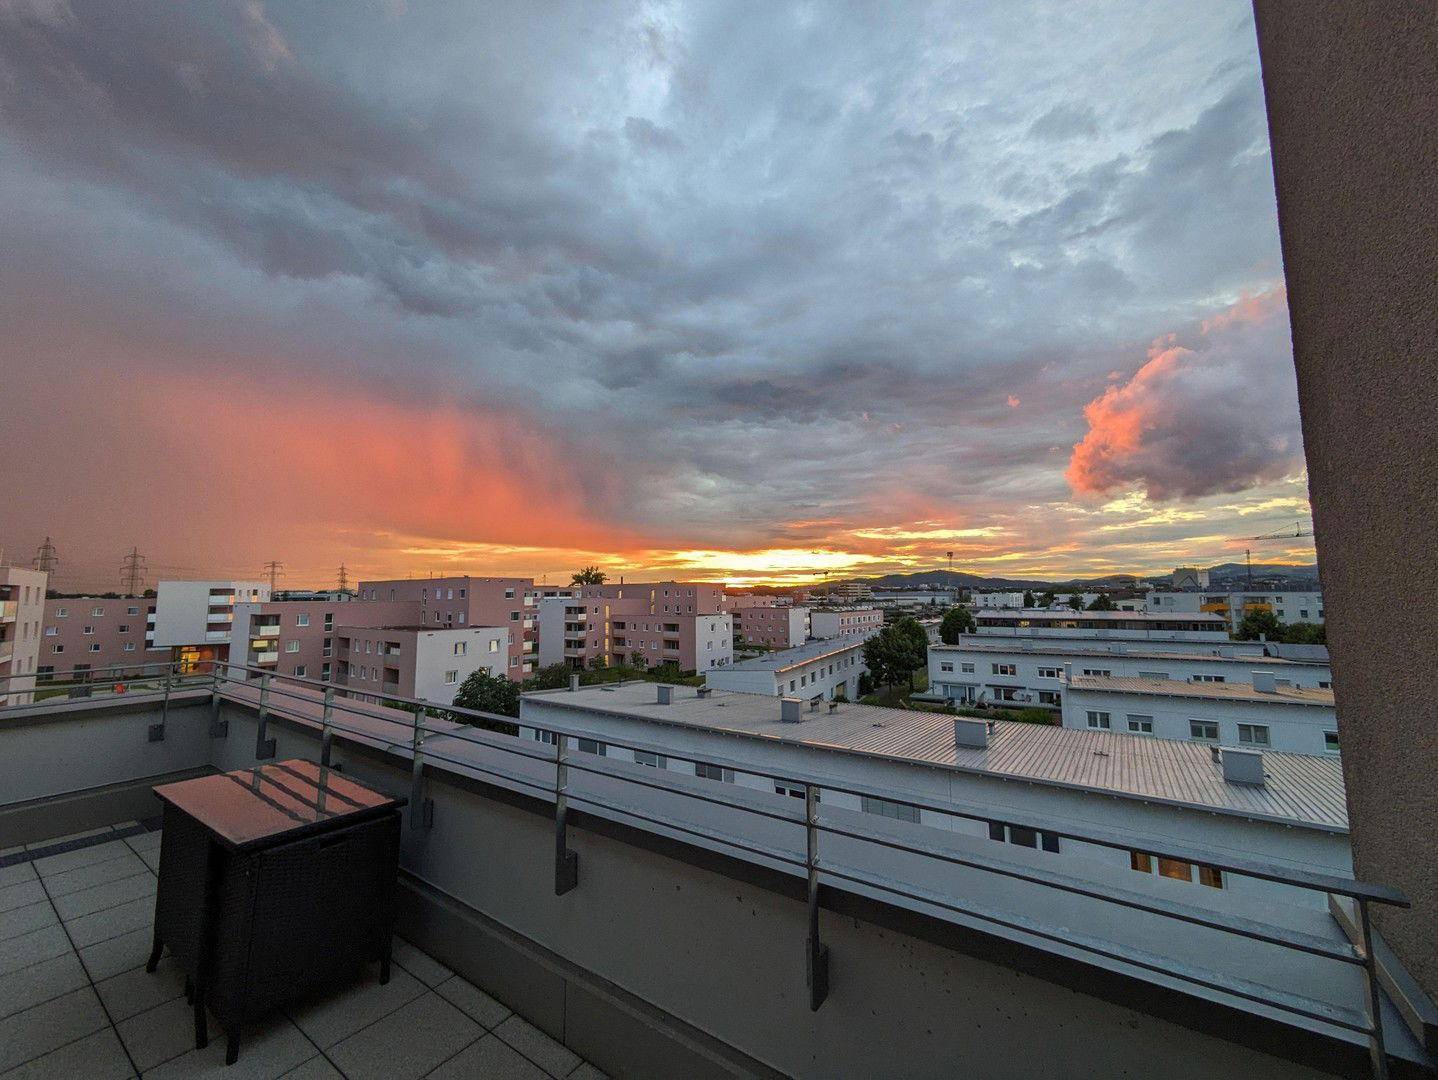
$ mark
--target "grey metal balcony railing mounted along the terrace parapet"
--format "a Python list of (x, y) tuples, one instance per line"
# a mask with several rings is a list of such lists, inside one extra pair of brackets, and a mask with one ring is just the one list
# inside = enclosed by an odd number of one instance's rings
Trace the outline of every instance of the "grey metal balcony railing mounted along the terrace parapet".
[[(1224, 851), (1173, 843), (1165, 837), (1136, 837), (1133, 834), (1109, 833), (1097, 828), (1070, 828), (1055, 825), (1048, 820), (1028, 820), (1022, 814), (1005, 814), (1005, 824), (1031, 828), (1066, 841), (1090, 844), (1132, 853), (1142, 846), (1153, 859), (1191, 863), (1211, 867), (1225, 877), (1248, 877), (1260, 882), (1287, 886), (1294, 890), (1317, 893), (1324, 897), (1327, 909), (1334, 912), (1330, 932), (1316, 932), (1310, 928), (1296, 928), (1283, 922), (1261, 922), (1235, 917), (1232, 913), (1206, 909), (1196, 905), (1171, 900), (1163, 896), (1117, 889), (1100, 882), (1071, 874), (1040, 870), (1022, 863), (976, 856), (974, 853), (946, 848), (938, 843), (925, 843), (910, 834), (897, 834), (889, 828), (863, 827), (844, 817), (830, 817), (830, 807), (821, 802), (828, 792), (844, 794), (877, 802), (889, 808), (912, 811), (915, 818), (920, 811), (955, 820), (992, 824), (988, 814), (966, 810), (961, 805), (922, 798), (907, 791), (896, 791), (877, 785), (854, 785), (835, 781), (820, 774), (775, 775), (762, 766), (762, 775), (775, 781), (775, 790), (794, 795), (794, 808), (765, 807), (723, 791), (731, 785), (703, 785), (696, 790), (679, 782), (682, 774), (664, 768), (636, 768), (615, 764), (605, 756), (607, 749), (623, 749), (636, 755), (636, 762), (689, 761), (696, 765), (696, 775), (710, 775), (713, 771), (755, 774), (761, 769), (754, 762), (723, 759), (716, 756), (693, 758), (673, 748), (649, 741), (617, 741), (610, 735), (595, 738), (595, 732), (580, 726), (557, 726), (551, 722), (535, 725), (523, 720), (535, 738), (519, 736), (519, 722), (510, 716), (483, 713), (452, 705), (437, 705), (423, 699), (398, 697), (387, 693), (387, 706), (370, 700), (351, 700), (345, 686), (316, 679), (286, 676), (249, 664), (217, 662), (191, 662), (184, 664), (154, 663), (142, 666), (142, 672), (128, 669), (115, 673), (114, 669), (95, 672), (72, 672), (69, 679), (50, 676), (40, 683), (37, 693), (68, 693), (72, 697), (101, 695), (129, 695), (158, 700), (161, 720), (171, 696), (180, 690), (209, 690), (213, 700), (230, 700), (250, 706), (257, 715), (256, 759), (275, 754), (273, 741), (267, 739), (266, 725), (270, 720), (288, 720), (313, 729), (319, 742), (321, 764), (329, 765), (336, 738), (378, 746), (410, 759), (410, 824), (411, 831), (423, 831), (427, 824), (426, 766), (453, 769), (457, 774), (492, 778), (503, 785), (525, 791), (554, 805), (555, 848), (554, 882), (555, 893), (562, 894), (580, 887), (578, 860), (565, 846), (567, 818), (571, 807), (597, 811), (615, 820), (640, 823), (661, 834), (693, 838), (716, 847), (736, 859), (756, 864), (781, 867), (805, 883), (808, 903), (807, 935), (807, 982), (810, 1008), (820, 1010), (828, 997), (830, 965), (828, 949), (820, 939), (820, 886), (857, 887), (866, 893), (889, 896), (899, 902), (920, 905), (925, 910), (939, 910), (959, 925), (982, 925), (994, 930), (1014, 935), (1028, 942), (1047, 943), (1061, 953), (1081, 953), (1097, 962), (1120, 965), (1130, 972), (1143, 972), (1158, 985), (1181, 984), (1206, 999), (1245, 1002), (1263, 1015), (1284, 1018), (1284, 1022), (1314, 1030), (1329, 1028), (1334, 1033), (1350, 1033), (1366, 1043), (1372, 1076), (1386, 1077), (1389, 1060), (1383, 1035), (1383, 989), (1376, 962), (1376, 949), (1370, 923), (1372, 905), (1406, 907), (1408, 900), (1398, 890), (1385, 884), (1366, 883), (1336, 874), (1313, 873), (1290, 866), (1252, 859), (1235, 859)], [(7, 679), (0, 676), (0, 700)], [(571, 687), (577, 686), (577, 679)], [(387, 692), (390, 686), (384, 687)], [(45, 702), (0, 709), (0, 732), (3, 720), (43, 712)], [(407, 712), (413, 709), (413, 712)], [(401, 712), (403, 710), (403, 712)], [(154, 738), (154, 732), (152, 732)], [(267, 748), (267, 752), (266, 752)], [(598, 749), (597, 749), (598, 748)], [(702, 768), (700, 768), (702, 766)], [(614, 798), (603, 791), (584, 790), (575, 784), (575, 774), (603, 778), (605, 784), (628, 787), (638, 792), (650, 792), (663, 798), (679, 800), (680, 804), (696, 807), (718, 807), (733, 813), (739, 821), (755, 823), (741, 830), (716, 828), (699, 821), (686, 820), (636, 804), (627, 798)], [(712, 787), (713, 790), (707, 790)], [(782, 800), (789, 801), (789, 800)], [(3, 805), (3, 804), (0, 804)], [(892, 815), (892, 814), (886, 814)], [(881, 818), (880, 818), (881, 820)], [(794, 843), (772, 843), (756, 838), (765, 830), (758, 823), (775, 823), (792, 830)], [(938, 836), (938, 834), (936, 834)], [(1064, 894), (1080, 900), (1112, 906), (1113, 926), (1126, 926), (1123, 916), (1153, 916), (1181, 928), (1196, 928), (1218, 939), (1240, 939), (1261, 946), (1273, 946), (1291, 958), (1311, 958), (1333, 966), (1334, 972), (1355, 971), (1355, 981), (1334, 975), (1334, 995), (1356, 991), (1352, 999), (1319, 998), (1310, 992), (1288, 991), (1268, 985), (1250, 975), (1235, 975), (1232, 969), (1205, 966), (1191, 959), (1178, 959), (1143, 948), (1132, 941), (1120, 941), (1117, 935), (1093, 935), (1076, 930), (1067, 922), (1045, 922), (1008, 907), (985, 905), (966, 896), (939, 892), (920, 883), (920, 874), (896, 876), (879, 873), (853, 861), (841, 861), (828, 854), (835, 841), (851, 841), (850, 857), (856, 850), (873, 853), (899, 853), (935, 866), (962, 867), (979, 874), (1021, 882), (1037, 890)], [(858, 846), (857, 848), (854, 846)], [(877, 860), (858, 860), (873, 866)], [(1313, 909), (1322, 915), (1320, 909)], [(1340, 920), (1342, 919), (1342, 920)], [(1043, 946), (1041, 946), (1043, 948)], [(1218, 951), (1215, 951), (1218, 955)], [(1277, 974), (1277, 968), (1270, 974)], [(1142, 976), (1140, 976), (1142, 978)], [(1311, 987), (1311, 981), (1310, 981)], [(1342, 994), (1340, 994), (1342, 991)], [(1244, 1008), (1244, 1005), (1237, 1005)], [(1306, 1022), (1309, 1021), (1309, 1022)]]

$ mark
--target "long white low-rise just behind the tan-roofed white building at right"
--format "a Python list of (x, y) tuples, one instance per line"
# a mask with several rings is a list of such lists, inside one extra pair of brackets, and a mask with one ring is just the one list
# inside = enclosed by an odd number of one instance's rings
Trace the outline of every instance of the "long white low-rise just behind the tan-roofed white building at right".
[(929, 646), (929, 692), (959, 705), (1058, 709), (1066, 672), (1195, 685), (1251, 682), (1255, 666), (1293, 686), (1332, 692), (1327, 659), (1284, 659), (1258, 641), (1205, 644), (1205, 651), (1168, 643), (1061, 639), (999, 639), (963, 634), (956, 644)]

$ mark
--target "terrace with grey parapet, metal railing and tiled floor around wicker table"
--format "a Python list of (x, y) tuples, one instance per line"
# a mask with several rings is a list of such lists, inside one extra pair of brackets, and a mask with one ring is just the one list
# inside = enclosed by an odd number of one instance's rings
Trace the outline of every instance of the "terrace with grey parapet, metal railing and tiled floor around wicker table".
[[(915, 814), (965, 814), (939, 792), (846, 788), (818, 774), (765, 792), (702, 779), (677, 733), (611, 739), (601, 756), (578, 752), (592, 739), (582, 728), (532, 738), (506, 718), (463, 709), (450, 712), (469, 723), (416, 716), (348, 700), (345, 687), (326, 710), (322, 683), (276, 676), (262, 690), (243, 682), (247, 674), (256, 672), (230, 666), (165, 700), (151, 693), (0, 710), (16, 777), (0, 795), (9, 800), (0, 850), (29, 846), (19, 859), (0, 857), (9, 874), (0, 886), (37, 883), (35, 913), (12, 907), (0, 925), (36, 919), (40, 929), (26, 936), (55, 928), (35, 941), (56, 949), (45, 959), (26, 952), (10, 961), (26, 966), (0, 971), (30, 972), (69, 955), (73, 942), (79, 965), (56, 966), (83, 978), (0, 1021), (9, 1022), (0, 1045), (12, 1054), (0, 1068), (55, 1053), (59, 1030), (69, 1033), (63, 1045), (108, 1033), (86, 1053), (112, 1051), (118, 1038), (148, 1054), (135, 1063), (142, 1070), (161, 1064), (161, 1048), (181, 1076), (219, 1060), (217, 1045), (204, 1051), (213, 1058), (191, 1057), (183, 988), (134, 971), (148, 948), (154, 887), (145, 877), (157, 844), (145, 825), (148, 790), (253, 764), (257, 751), (328, 759), (411, 800), (398, 926), (413, 942), (398, 958), (406, 991), (381, 991), (371, 975), (334, 998), (344, 1004), (265, 1021), (247, 1045), (273, 1048), (272, 1076), (302, 1060), (283, 1057), (288, 1047), (318, 1051), (347, 1074), (421, 1076), (434, 1067), (424, 1054), (499, 1053), (498, 1043), (528, 1058), (515, 1074), (523, 1067), (535, 1077), (569, 1074), (581, 1067), (574, 1054), (624, 1076), (1156, 1076), (1155, 1053), (1232, 1076), (1363, 1074), (1369, 992), (1380, 1007), (1379, 1060), (1409, 1071), (1432, 1063), (1405, 1018), (1403, 985), (1375, 975), (1380, 959), (1368, 958), (1380, 953), (1355, 946), (1343, 922), (1353, 905), (1395, 899), (1379, 886), (1145, 838), (1225, 874), (1317, 890), (1339, 915), (1237, 897), (1215, 913), (1173, 893), (1155, 899), (1041, 869), (1040, 853), (975, 854), (939, 830), (841, 807), (851, 794)], [(641, 756), (663, 764), (637, 764)], [(742, 768), (710, 759), (703, 775)], [(823, 800), (788, 798), (805, 788)], [(91, 836), (47, 840), (62, 831)], [(1136, 843), (1067, 823), (1061, 836), (1100, 847)], [(104, 859), (93, 861), (78, 854), (99, 848)], [(60, 874), (73, 882), (115, 860), (134, 873), (92, 886), (101, 890), (93, 900), (65, 902), (66, 883), (50, 887)], [(14, 871), (20, 864), (35, 876)], [(656, 913), (666, 896), (676, 906)], [(17, 955), (12, 941), (0, 941), (0, 962)], [(30, 985), (14, 981), (22, 984)], [(91, 985), (102, 1002), (119, 1002), (108, 1017), (91, 1005)], [(404, 994), (411, 997), (394, 1001)], [(521, 1020), (505, 1031), (508, 1010)], [(519, 1033), (531, 1041), (521, 1044)], [(59, 1057), (36, 1068), (101, 1071)], [(453, 1071), (466, 1068), (486, 1074), (477, 1064)]]

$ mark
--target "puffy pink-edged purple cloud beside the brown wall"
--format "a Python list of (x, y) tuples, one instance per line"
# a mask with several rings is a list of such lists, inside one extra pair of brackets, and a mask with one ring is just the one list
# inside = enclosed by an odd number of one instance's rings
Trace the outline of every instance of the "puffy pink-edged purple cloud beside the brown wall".
[(1205, 321), (1084, 407), (1089, 433), (1066, 473), (1080, 493), (1143, 488), (1150, 499), (1241, 492), (1301, 469), (1283, 293)]

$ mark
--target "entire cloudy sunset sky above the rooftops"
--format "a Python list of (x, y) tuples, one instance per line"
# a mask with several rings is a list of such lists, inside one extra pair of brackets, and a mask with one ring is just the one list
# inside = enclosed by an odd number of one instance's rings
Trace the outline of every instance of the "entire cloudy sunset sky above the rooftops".
[(69, 588), (1241, 558), (1250, 6), (0, 0), (0, 431)]

